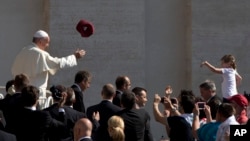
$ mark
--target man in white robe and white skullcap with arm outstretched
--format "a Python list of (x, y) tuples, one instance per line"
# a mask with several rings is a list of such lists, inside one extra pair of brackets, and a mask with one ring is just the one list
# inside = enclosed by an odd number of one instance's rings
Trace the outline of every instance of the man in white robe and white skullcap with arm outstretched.
[[(77, 49), (66, 57), (52, 57), (46, 50), (49, 47), (50, 37), (43, 30), (38, 30), (32, 44), (24, 47), (16, 56), (11, 72), (15, 76), (25, 73), (30, 78), (30, 84), (39, 88), (39, 98), (46, 97), (49, 75), (54, 75), (58, 69), (73, 67), (77, 60), (85, 55), (84, 50)], [(41, 103), (41, 101), (40, 101)]]

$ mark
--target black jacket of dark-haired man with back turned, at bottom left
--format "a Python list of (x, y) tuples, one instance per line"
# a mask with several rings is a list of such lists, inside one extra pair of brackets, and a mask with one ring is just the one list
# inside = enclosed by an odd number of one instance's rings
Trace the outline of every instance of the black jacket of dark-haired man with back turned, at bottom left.
[(60, 112), (60, 120), (53, 119), (47, 111), (33, 111), (23, 108), (16, 118), (18, 141), (45, 141), (48, 133), (64, 138), (68, 136), (65, 114)]

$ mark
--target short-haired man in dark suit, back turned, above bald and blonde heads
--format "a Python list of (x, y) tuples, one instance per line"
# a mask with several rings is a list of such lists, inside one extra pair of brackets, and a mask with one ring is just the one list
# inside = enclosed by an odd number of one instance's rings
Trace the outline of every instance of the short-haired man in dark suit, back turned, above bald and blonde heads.
[(111, 141), (107, 130), (107, 121), (111, 116), (115, 115), (115, 113), (121, 110), (120, 107), (112, 103), (114, 95), (114, 86), (112, 84), (106, 84), (102, 88), (101, 96), (103, 100), (101, 101), (101, 103), (87, 108), (87, 117), (92, 122), (94, 121), (93, 114), (99, 112), (100, 115), (100, 126), (92, 134), (92, 137), (95, 141)]

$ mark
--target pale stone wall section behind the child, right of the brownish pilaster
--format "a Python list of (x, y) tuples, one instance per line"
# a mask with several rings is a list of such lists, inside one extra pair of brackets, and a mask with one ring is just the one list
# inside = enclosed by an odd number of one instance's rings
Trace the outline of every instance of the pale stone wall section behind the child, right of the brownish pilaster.
[[(243, 77), (238, 87), (239, 93), (249, 89), (249, 47), (250, 47), (250, 9), (249, 1), (192, 1), (192, 87), (211, 79), (221, 95), (222, 76), (207, 68), (200, 68), (202, 60), (208, 60), (220, 67), (220, 59), (225, 54), (236, 58), (237, 70)], [(197, 90), (198, 92), (198, 90)]]

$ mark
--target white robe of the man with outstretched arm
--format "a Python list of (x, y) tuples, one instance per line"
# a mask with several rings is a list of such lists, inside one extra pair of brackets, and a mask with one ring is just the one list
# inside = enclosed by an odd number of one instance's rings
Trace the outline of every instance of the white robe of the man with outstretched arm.
[(30, 79), (30, 84), (39, 88), (40, 97), (46, 97), (49, 74), (54, 75), (58, 69), (77, 65), (75, 55), (57, 58), (32, 44), (25, 47), (16, 56), (11, 68), (12, 75), (24, 73)]

